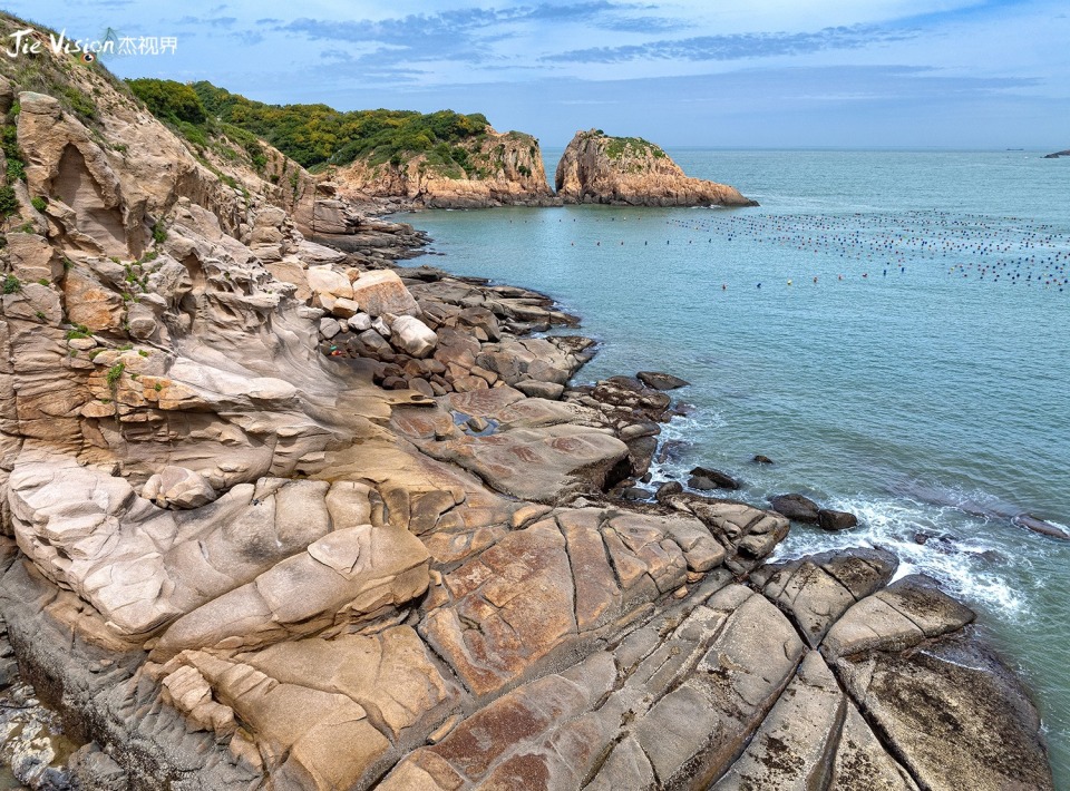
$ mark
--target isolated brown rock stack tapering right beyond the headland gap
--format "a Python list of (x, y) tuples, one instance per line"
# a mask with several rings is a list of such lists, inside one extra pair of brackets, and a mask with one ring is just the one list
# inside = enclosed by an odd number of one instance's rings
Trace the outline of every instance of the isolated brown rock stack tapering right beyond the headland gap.
[(736, 187), (687, 176), (660, 147), (641, 137), (577, 131), (557, 164), (565, 203), (628, 206), (757, 206)]

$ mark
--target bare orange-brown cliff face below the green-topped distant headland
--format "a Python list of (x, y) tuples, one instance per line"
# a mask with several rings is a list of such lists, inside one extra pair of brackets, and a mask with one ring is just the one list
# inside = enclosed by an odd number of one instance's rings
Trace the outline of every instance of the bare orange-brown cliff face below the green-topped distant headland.
[(558, 203), (546, 179), (538, 140), (522, 131), (490, 127), (460, 144), (468, 167), (436, 163), (434, 152), (402, 162), (359, 159), (339, 168), (334, 180), (353, 201), (405, 198), (426, 208), (552, 206)]

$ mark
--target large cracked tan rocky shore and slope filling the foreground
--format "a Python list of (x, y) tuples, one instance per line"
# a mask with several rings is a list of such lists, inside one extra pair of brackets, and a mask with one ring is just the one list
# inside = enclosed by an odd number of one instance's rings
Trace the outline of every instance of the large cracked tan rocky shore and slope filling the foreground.
[[(786, 517), (679, 484), (620, 497), (671, 378), (573, 384), (573, 316), (398, 266), (417, 232), (266, 141), (191, 141), (47, 47), (2, 68), (21, 783), (1052, 788), (1028, 692), (933, 580), (770, 563)], [(319, 202), (348, 252), (302, 234)]]

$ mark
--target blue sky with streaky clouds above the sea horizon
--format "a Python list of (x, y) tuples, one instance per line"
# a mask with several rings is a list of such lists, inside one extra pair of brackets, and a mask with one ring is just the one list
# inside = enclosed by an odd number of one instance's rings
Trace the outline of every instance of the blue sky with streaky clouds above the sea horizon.
[[(18, 0), (120, 77), (703, 147), (1070, 147), (1066, 0)], [(10, 42), (4, 42), (9, 45)]]

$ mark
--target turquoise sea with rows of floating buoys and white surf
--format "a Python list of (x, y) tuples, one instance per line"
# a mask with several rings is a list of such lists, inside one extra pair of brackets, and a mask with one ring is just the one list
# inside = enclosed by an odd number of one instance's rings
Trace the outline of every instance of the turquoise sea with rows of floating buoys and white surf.
[(1009, 518), (1070, 525), (1070, 160), (670, 154), (761, 206), (407, 219), (445, 253), (429, 263), (580, 313), (601, 344), (581, 379), (692, 382), (659, 478), (702, 463), (753, 501), (801, 491), (854, 511), (860, 528), (794, 527), (781, 554), (884, 546), (965, 598), (1027, 676), (1070, 788), (1070, 541)]

